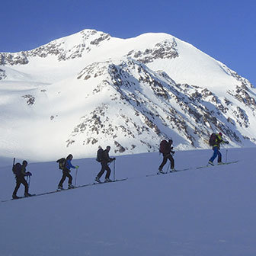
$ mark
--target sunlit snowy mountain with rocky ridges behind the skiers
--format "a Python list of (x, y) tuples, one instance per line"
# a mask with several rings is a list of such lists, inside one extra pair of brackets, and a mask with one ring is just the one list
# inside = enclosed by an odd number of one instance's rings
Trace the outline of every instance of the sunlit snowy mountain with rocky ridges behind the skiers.
[(256, 91), (236, 72), (168, 34), (130, 39), (82, 30), (21, 53), (0, 53), (0, 153), (50, 160), (72, 152), (254, 146)]

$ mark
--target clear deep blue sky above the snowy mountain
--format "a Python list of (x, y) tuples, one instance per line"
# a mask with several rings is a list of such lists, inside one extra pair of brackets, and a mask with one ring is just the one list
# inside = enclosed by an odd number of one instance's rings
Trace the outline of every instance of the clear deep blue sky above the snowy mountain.
[(34, 49), (85, 28), (121, 38), (165, 32), (256, 86), (254, 0), (6, 0), (0, 9), (0, 52)]

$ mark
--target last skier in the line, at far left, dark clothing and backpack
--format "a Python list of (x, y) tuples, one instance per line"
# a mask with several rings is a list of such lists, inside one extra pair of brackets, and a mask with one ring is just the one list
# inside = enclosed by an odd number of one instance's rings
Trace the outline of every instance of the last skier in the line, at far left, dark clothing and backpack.
[(31, 176), (32, 174), (29, 171), (26, 171), (26, 167), (27, 167), (27, 161), (24, 160), (21, 164), (18, 164), (21, 166), (21, 169), (18, 170), (18, 172), (15, 174), (15, 178), (16, 178), (16, 187), (14, 188), (14, 191), (12, 193), (12, 198), (13, 199), (18, 199), (21, 197), (17, 196), (17, 192), (19, 187), (21, 186), (21, 184), (24, 184), (25, 190), (24, 190), (24, 197), (31, 197), (32, 195), (28, 193), (28, 184), (27, 181), (25, 180), (25, 176)]

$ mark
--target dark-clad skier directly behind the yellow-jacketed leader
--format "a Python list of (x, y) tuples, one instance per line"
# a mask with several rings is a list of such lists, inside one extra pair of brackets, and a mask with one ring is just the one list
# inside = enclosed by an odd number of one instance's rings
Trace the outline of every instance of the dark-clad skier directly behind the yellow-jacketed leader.
[(163, 160), (162, 160), (162, 164), (158, 168), (159, 173), (165, 173), (164, 171), (162, 171), (162, 168), (165, 166), (167, 159), (169, 159), (171, 162), (171, 171), (176, 171), (174, 168), (174, 158), (171, 155), (171, 154), (174, 154), (175, 152), (172, 150), (173, 146), (171, 145), (172, 145), (172, 139), (169, 139), (168, 142), (166, 140), (162, 140), (162, 142), (160, 143), (159, 152), (162, 153)]

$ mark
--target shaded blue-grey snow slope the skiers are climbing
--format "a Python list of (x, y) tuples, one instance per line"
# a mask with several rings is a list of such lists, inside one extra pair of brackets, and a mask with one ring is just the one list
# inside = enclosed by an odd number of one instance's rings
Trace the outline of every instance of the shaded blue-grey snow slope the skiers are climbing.
[[(146, 174), (162, 161), (157, 153), (123, 155), (116, 177), (127, 181), (0, 203), (0, 254), (253, 256), (255, 149), (229, 149), (228, 161), (239, 160), (233, 165), (195, 168), (211, 154), (177, 151), (176, 168), (191, 169), (155, 177)], [(222, 155), (225, 162), (226, 149)], [(94, 158), (73, 164), (78, 184), (93, 182), (100, 168)], [(29, 163), (27, 171), (37, 194), (54, 190), (61, 176), (55, 162)], [(14, 188), (11, 165), (0, 175), (5, 200)]]

